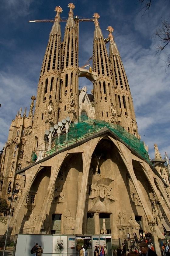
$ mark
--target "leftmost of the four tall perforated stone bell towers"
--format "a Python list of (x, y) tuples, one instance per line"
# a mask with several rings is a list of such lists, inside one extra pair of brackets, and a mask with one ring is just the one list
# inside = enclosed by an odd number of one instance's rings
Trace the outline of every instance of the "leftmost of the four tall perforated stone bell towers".
[(39, 141), (38, 144), (44, 143), (42, 136), (44, 131), (58, 121), (58, 95), (61, 81), (60, 13), (62, 8), (57, 6), (55, 11), (57, 14), (50, 32), (37, 90), (33, 128)]

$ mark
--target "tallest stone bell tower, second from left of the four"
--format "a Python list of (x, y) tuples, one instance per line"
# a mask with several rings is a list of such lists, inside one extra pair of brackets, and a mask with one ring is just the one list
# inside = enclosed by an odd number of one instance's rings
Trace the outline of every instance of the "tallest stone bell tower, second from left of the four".
[(68, 20), (65, 26), (62, 47), (62, 79), (59, 93), (58, 120), (69, 116), (71, 121), (78, 120), (78, 46), (73, 19), (75, 5), (69, 3)]

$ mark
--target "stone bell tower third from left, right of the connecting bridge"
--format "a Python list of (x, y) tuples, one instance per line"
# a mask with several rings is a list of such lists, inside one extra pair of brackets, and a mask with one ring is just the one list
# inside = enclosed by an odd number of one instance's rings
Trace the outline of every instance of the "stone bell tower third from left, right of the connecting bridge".
[(93, 42), (93, 70), (97, 73), (94, 82), (94, 105), (96, 117), (106, 122), (117, 123), (116, 104), (113, 94), (113, 75), (110, 69), (106, 45), (99, 27), (99, 14), (94, 13), (95, 31)]

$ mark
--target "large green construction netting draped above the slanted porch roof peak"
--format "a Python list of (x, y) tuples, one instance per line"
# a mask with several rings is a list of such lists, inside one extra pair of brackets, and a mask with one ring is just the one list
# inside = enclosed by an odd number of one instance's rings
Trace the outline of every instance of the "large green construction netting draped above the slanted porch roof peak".
[(117, 135), (120, 140), (124, 141), (131, 149), (141, 155), (147, 162), (151, 163), (149, 155), (144, 147), (144, 142), (128, 133), (122, 126), (91, 118), (84, 119), (83, 116), (82, 118), (79, 118), (77, 123), (70, 124), (68, 133), (60, 135), (59, 138), (55, 139), (54, 147), (50, 151), (47, 151), (46, 154), (51, 155), (76, 141), (102, 130), (104, 127), (107, 127)]

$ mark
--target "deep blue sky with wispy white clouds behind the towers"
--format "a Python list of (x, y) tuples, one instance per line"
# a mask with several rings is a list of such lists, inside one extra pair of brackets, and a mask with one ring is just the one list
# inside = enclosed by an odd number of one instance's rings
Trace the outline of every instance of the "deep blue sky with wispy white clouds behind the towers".
[[(54, 9), (60, 5), (61, 18), (68, 17), (68, 1), (54, 0), (2, 0), (0, 37), (0, 149), (8, 137), (12, 119), (20, 107), (31, 103), (36, 96), (37, 83), (43, 56), (48, 42), (51, 23), (28, 23), (28, 20), (53, 19)], [(168, 48), (156, 56), (159, 44), (154, 32), (161, 25), (161, 17), (169, 16), (170, 1), (154, 0), (149, 11), (143, 10), (137, 0), (84, 0), (74, 1), (74, 14), (80, 18), (92, 18), (100, 14), (100, 27), (104, 37), (106, 28), (114, 28), (114, 37), (132, 93), (137, 125), (141, 140), (149, 146), (154, 158), (154, 143), (164, 157), (170, 157), (170, 69), (165, 72)], [(61, 23), (62, 39), (65, 23)], [(94, 24), (82, 22), (79, 26), (79, 66), (92, 56)], [(109, 45), (107, 45), (108, 47)], [(79, 87), (92, 83), (81, 78)]]

